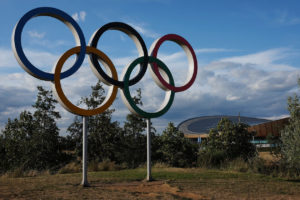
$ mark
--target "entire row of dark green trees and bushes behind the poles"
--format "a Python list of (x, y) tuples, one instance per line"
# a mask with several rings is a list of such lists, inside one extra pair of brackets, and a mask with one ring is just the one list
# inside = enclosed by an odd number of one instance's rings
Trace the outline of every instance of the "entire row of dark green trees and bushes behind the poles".
[[(300, 85), (300, 82), (299, 82)], [(58, 171), (70, 162), (80, 162), (82, 156), (82, 119), (76, 116), (59, 135), (56, 121), (61, 118), (55, 110), (57, 101), (52, 91), (38, 86), (33, 112), (23, 111), (19, 117), (8, 119), (0, 133), (0, 173), (12, 170)], [(100, 82), (91, 87), (92, 93), (79, 104), (93, 109), (102, 104), (105, 91)], [(142, 105), (141, 90), (133, 97)], [(270, 171), (300, 175), (300, 102), (298, 95), (288, 98), (290, 123), (280, 138), (271, 138), (271, 151), (278, 156), (276, 163), (262, 165), (255, 145), (254, 133), (248, 125), (222, 119), (210, 130), (207, 140), (192, 143), (169, 123), (162, 133), (151, 127), (152, 161), (172, 167), (224, 167), (236, 159), (254, 167), (258, 172)], [(136, 168), (146, 162), (146, 120), (128, 114), (123, 126), (112, 120), (113, 109), (88, 117), (89, 162), (111, 161), (126, 168)], [(271, 166), (271, 169), (270, 169)]]

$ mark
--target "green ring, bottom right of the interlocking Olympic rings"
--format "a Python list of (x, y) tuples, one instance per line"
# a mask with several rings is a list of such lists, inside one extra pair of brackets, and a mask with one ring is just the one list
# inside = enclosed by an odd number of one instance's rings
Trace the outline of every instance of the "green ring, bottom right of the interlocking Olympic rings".
[[(156, 117), (160, 117), (162, 116), (163, 114), (165, 114), (171, 107), (173, 101), (174, 101), (174, 96), (175, 96), (175, 92), (173, 91), (167, 91), (167, 92), (170, 92), (170, 97), (169, 97), (169, 100), (167, 102), (167, 104), (162, 108), (160, 109), (159, 111), (157, 112), (145, 112), (143, 111), (142, 109), (140, 109), (136, 104), (135, 102), (133, 101), (131, 95), (130, 95), (130, 91), (129, 91), (129, 79), (130, 79), (130, 74), (132, 73), (133, 69), (140, 63), (143, 63), (144, 62), (144, 57), (139, 57), (137, 59), (135, 59), (130, 65), (129, 67), (127, 68), (127, 71), (124, 75), (124, 78), (123, 78), (123, 81), (124, 81), (124, 88), (122, 89), (123, 91), (123, 94), (124, 94), (124, 97), (126, 98), (127, 102), (128, 102), (128, 106), (130, 106), (134, 111), (135, 113), (134, 114), (138, 114), (139, 116), (141, 117), (144, 117), (144, 118), (156, 118)], [(174, 79), (173, 79), (173, 76), (170, 72), (170, 70), (168, 69), (168, 67), (159, 59), (155, 58), (155, 57), (152, 57), (152, 56), (149, 56), (149, 63), (156, 63), (158, 64), (159, 68), (162, 69), (166, 75), (168, 76), (169, 78), (169, 82), (172, 86), (174, 86)], [(166, 99), (164, 100), (164, 102), (166, 101)], [(126, 104), (126, 103), (125, 103)], [(130, 108), (129, 108), (130, 110)]]

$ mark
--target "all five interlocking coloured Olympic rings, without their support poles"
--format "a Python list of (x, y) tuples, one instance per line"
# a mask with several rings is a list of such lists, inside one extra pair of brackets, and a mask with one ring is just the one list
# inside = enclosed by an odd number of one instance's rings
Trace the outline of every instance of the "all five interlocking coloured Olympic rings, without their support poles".
[[(57, 63), (54, 65), (54, 73), (44, 72), (35, 67), (27, 59), (22, 48), (21, 36), (25, 24), (33, 17), (38, 16), (49, 16), (60, 20), (68, 26), (68, 28), (73, 33), (73, 36), (75, 37), (77, 46), (66, 51), (59, 58)], [(139, 52), (140, 57), (135, 59), (132, 63), (129, 63), (128, 66), (124, 68), (123, 77), (121, 78), (122, 81), (118, 79), (116, 68), (109, 57), (102, 51), (97, 49), (98, 41), (101, 35), (107, 30), (117, 30), (127, 34), (133, 40)], [(188, 78), (183, 86), (175, 86), (174, 79), (170, 70), (161, 60), (157, 58), (159, 47), (165, 41), (173, 41), (177, 43), (182, 47), (188, 57)], [(16, 24), (13, 30), (11, 43), (14, 55), (21, 67), (35, 78), (45, 81), (51, 81), (53, 83), (54, 94), (57, 96), (59, 103), (68, 111), (81, 116), (91, 116), (104, 112), (109, 106), (111, 106), (116, 98), (118, 88), (120, 88), (123, 102), (132, 113), (144, 118), (159, 117), (169, 110), (173, 103), (176, 92), (182, 92), (191, 87), (196, 79), (198, 70), (197, 58), (192, 46), (179, 35), (168, 34), (157, 39), (151, 45), (149, 50), (150, 53), (148, 55), (144, 40), (134, 28), (122, 22), (111, 22), (99, 28), (92, 35), (89, 45), (87, 46), (83, 32), (77, 22), (67, 13), (51, 7), (35, 8), (27, 12)], [(63, 64), (70, 56), (74, 54), (76, 54), (77, 56), (75, 63), (68, 70), (62, 72)], [(104, 102), (100, 105), (100, 107), (92, 110), (82, 109), (72, 104), (65, 96), (60, 83), (61, 79), (71, 76), (80, 68), (84, 61), (85, 54), (89, 54), (90, 67), (92, 68), (93, 73), (99, 80), (109, 86), (109, 91)], [(102, 69), (99, 62), (106, 68), (108, 72), (110, 72), (109, 75)], [(139, 72), (135, 77), (130, 79), (130, 74), (138, 64), (140, 64)], [(129, 86), (136, 84), (143, 78), (148, 66), (150, 66), (149, 68), (151, 71), (151, 75), (155, 83), (160, 88), (166, 91), (165, 100), (161, 108), (158, 111), (152, 113), (145, 112), (140, 109), (132, 99), (129, 90)]]

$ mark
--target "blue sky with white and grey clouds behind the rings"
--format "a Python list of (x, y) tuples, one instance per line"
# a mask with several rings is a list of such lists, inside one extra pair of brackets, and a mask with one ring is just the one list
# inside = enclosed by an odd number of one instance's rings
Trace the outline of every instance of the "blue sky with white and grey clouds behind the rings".
[[(86, 0), (0, 2), (0, 128), (7, 118), (30, 110), (36, 86), (51, 89), (51, 83), (28, 75), (16, 62), (11, 50), (11, 34), (17, 21), (37, 7), (55, 7), (78, 22), (88, 42), (95, 30), (108, 22), (121, 21), (133, 26), (149, 49), (159, 37), (175, 33), (193, 46), (198, 59), (198, 76), (188, 90), (175, 95), (169, 112), (153, 120), (158, 130), (169, 121), (206, 115), (238, 115), (269, 119), (288, 115), (287, 97), (297, 92), (300, 74), (299, 1), (171, 1), (171, 0)], [(131, 39), (118, 31), (101, 38), (101, 48), (114, 62), (119, 76), (125, 65), (138, 54)], [(60, 21), (37, 17), (26, 24), (22, 34), (25, 54), (37, 67), (52, 71), (55, 61), (74, 47), (74, 37)], [(101, 47), (100, 47), (101, 46)], [(160, 48), (158, 57), (171, 70), (175, 84), (185, 80), (187, 58), (172, 42)], [(88, 95), (97, 79), (88, 67), (63, 80), (72, 102)], [(149, 75), (132, 87), (142, 89), (148, 111), (159, 108), (164, 92)], [(114, 102), (114, 120), (122, 123), (128, 109), (120, 96)], [(74, 115), (58, 106), (63, 134)]]

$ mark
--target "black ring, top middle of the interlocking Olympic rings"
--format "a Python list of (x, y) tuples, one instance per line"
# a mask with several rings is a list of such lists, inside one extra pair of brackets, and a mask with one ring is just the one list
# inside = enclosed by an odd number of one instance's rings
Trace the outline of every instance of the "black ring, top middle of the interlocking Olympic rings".
[[(128, 24), (122, 23), (122, 22), (111, 22), (108, 24), (105, 24), (104, 26), (102, 26), (100, 29), (98, 29), (93, 36), (90, 39), (90, 44), (89, 46), (97, 48), (97, 44), (98, 41), (101, 37), (101, 35), (107, 31), (107, 30), (118, 30), (118, 31), (122, 31), (123, 33), (127, 34), (130, 38), (132, 38), (135, 42), (135, 45), (137, 46), (138, 50), (142, 50), (144, 55), (140, 55), (143, 56), (144, 62), (143, 64), (141, 64), (140, 67), (140, 71), (138, 72), (138, 74), (131, 80), (129, 80), (129, 86), (136, 84), (137, 82), (139, 82), (143, 76), (146, 73), (147, 70), (147, 65), (148, 65), (148, 51), (147, 51), (147, 47), (146, 44), (144, 42), (144, 40), (142, 39), (142, 37), (140, 36), (140, 34), (131, 26), (129, 26)], [(138, 41), (138, 43), (137, 43)], [(140, 51), (139, 51), (140, 53)], [(109, 84), (118, 86), (120, 88), (124, 87), (124, 82), (123, 81), (119, 81), (119, 80), (115, 80), (113, 78), (111, 78), (110, 76), (108, 76), (105, 71), (102, 70), (102, 67), (100, 66), (99, 62), (98, 62), (98, 58), (96, 55), (94, 54), (90, 54), (89, 55), (91, 64), (93, 65), (92, 67), (94, 67), (99, 75), (105, 80), (107, 81)]]

